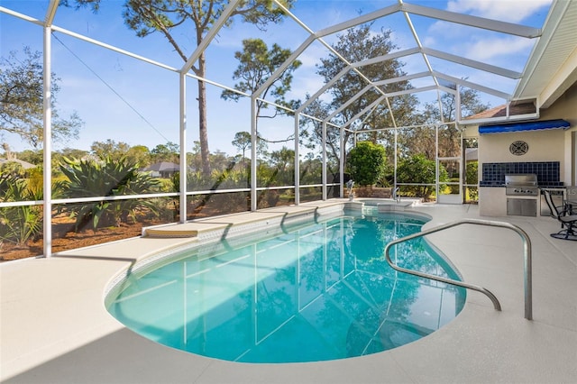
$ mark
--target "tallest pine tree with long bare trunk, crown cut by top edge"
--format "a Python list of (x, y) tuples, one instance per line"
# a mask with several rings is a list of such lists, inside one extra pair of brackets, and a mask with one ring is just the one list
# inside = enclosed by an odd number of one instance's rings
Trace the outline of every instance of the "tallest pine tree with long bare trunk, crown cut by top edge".
[[(66, 0), (69, 5), (75, 2), (77, 7), (90, 6), (93, 11), (98, 11), (101, 0)], [(285, 0), (285, 5), (290, 8), (294, 0)], [(228, 2), (222, 0), (126, 0), (124, 3), (124, 22), (130, 29), (136, 32), (136, 36), (145, 37), (154, 32), (162, 34), (172, 46), (179, 57), (186, 62), (190, 53), (184, 50), (185, 41), (181, 45), (176, 37), (182, 32), (179, 27), (186, 27), (188, 22), (194, 25), (193, 38), (197, 46), (203, 41), (216, 20), (223, 14)], [(233, 23), (233, 16), (239, 15), (244, 22), (254, 23), (264, 29), (267, 23), (278, 23), (283, 16), (283, 11), (275, 7), (272, 0), (245, 0), (241, 2), (226, 25)], [(186, 33), (184, 33), (187, 35)], [(206, 83), (202, 80), (206, 75), (206, 55), (202, 52), (196, 65), (191, 68), (198, 79), (198, 133), (200, 142), (200, 155), (202, 170), (205, 176), (210, 174), (210, 160), (208, 151), (208, 134), (206, 127)]]

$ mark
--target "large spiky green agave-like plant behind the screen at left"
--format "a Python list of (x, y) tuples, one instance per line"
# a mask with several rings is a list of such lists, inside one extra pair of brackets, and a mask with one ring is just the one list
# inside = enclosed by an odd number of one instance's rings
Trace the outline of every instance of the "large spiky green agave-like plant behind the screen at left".
[[(68, 178), (64, 197), (113, 197), (141, 195), (158, 191), (160, 183), (148, 174), (138, 171), (138, 166), (125, 158), (102, 161), (70, 160), (64, 158), (60, 169)], [(64, 211), (76, 217), (75, 231), (91, 224), (96, 231), (99, 225), (120, 225), (129, 216), (134, 217), (140, 208), (155, 211), (148, 199), (105, 200), (96, 203), (64, 206)]]

